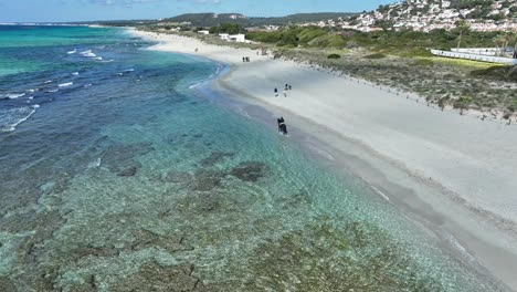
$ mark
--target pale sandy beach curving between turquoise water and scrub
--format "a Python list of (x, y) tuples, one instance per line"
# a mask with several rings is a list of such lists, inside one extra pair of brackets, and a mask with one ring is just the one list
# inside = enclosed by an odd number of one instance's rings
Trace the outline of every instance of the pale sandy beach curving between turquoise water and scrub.
[[(283, 115), (293, 139), (338, 171), (365, 179), (444, 244), (458, 253), (464, 249), (465, 261), (473, 257), (517, 291), (515, 127), (440, 112), (361, 81), (247, 49), (133, 33), (159, 42), (152, 50), (229, 64), (231, 72), (213, 86), (250, 104), (250, 116), (271, 118), (274, 126), (274, 117)], [(243, 63), (242, 56), (252, 62)], [(282, 96), (285, 83), (293, 85), (287, 97)], [(267, 113), (253, 114), (253, 105)]]

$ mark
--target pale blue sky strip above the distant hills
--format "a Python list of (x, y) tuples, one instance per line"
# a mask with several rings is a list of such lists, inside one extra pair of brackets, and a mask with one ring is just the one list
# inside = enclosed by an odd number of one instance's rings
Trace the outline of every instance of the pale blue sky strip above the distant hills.
[(0, 23), (160, 19), (196, 12), (279, 17), (359, 12), (391, 2), (395, 0), (0, 0)]

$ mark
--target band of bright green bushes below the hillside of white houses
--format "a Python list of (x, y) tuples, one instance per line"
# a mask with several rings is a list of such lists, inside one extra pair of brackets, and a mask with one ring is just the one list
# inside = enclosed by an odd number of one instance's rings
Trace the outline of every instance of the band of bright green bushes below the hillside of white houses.
[[(460, 36), (461, 35), (461, 36)], [(504, 32), (475, 32), (466, 27), (445, 31), (433, 30), (429, 33), (411, 30), (359, 32), (344, 31), (337, 34), (318, 27), (288, 27), (274, 32), (250, 32), (252, 41), (276, 44), (278, 46), (302, 48), (363, 48), (374, 53), (408, 58), (431, 56), (429, 48), (450, 50), (456, 48), (461, 38), (462, 46), (496, 46), (502, 39), (513, 39)], [(513, 40), (508, 40), (510, 43)], [(507, 42), (508, 42), (507, 41)]]

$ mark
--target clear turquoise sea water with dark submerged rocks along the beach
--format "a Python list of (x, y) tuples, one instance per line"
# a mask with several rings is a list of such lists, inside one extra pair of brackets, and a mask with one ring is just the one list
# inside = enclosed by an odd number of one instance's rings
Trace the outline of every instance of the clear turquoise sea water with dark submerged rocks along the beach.
[(0, 29), (0, 291), (500, 290), (148, 45)]

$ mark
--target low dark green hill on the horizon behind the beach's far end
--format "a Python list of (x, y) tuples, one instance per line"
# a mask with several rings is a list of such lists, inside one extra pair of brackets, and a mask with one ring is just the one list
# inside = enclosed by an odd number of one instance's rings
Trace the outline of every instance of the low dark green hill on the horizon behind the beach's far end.
[(221, 23), (234, 23), (243, 27), (285, 25), (288, 23), (317, 22), (321, 20), (351, 17), (348, 12), (298, 13), (277, 18), (249, 18), (239, 13), (189, 13), (163, 19), (160, 22), (190, 22), (193, 27), (214, 27)]

